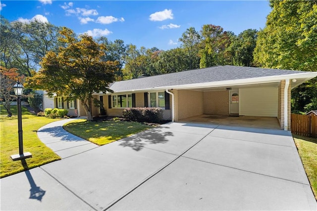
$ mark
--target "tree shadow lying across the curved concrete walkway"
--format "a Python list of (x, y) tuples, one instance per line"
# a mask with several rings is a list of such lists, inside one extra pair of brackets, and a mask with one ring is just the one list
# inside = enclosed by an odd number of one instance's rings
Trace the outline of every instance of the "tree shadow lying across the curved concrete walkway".
[[(63, 127), (61, 126), (55, 126), (55, 127), (50, 127), (50, 128), (44, 128), (41, 130), (38, 130), (38, 136), (39, 138), (41, 137), (41, 133), (48, 133), (49, 135), (53, 137), (58, 137), (60, 138), (61, 141), (72, 141), (72, 142), (77, 142), (77, 141), (86, 141), (83, 140), (82, 138), (75, 136), (69, 132), (66, 132)], [(40, 138), (41, 139), (41, 138)], [(41, 139), (42, 140), (42, 139)]]

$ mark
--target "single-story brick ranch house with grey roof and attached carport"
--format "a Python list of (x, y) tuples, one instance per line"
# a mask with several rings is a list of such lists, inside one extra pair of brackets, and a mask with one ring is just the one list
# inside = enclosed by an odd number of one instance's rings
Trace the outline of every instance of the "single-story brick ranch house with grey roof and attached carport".
[[(163, 118), (172, 121), (201, 114), (269, 116), (279, 120), (281, 129), (290, 130), (291, 89), (316, 76), (317, 72), (213, 66), (118, 81), (109, 86), (113, 93), (93, 96), (111, 116), (121, 116), (125, 107), (161, 107)], [(56, 100), (61, 106), (63, 99)], [(80, 107), (74, 106), (77, 115), (85, 115)], [(94, 107), (92, 114), (99, 115), (100, 108)]]

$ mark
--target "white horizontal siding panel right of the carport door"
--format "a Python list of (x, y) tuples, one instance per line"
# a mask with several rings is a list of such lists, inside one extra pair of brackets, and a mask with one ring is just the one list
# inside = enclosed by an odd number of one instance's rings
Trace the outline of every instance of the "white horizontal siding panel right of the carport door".
[(259, 87), (239, 89), (240, 115), (277, 116), (278, 88)]

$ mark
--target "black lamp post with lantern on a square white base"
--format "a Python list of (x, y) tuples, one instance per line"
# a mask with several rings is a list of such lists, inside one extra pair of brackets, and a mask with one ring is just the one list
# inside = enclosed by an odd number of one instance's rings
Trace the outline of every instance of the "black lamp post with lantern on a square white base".
[(18, 106), (18, 134), (19, 134), (19, 154), (12, 155), (11, 159), (14, 160), (21, 160), (25, 158), (31, 158), (32, 154), (27, 152), (23, 153), (23, 131), (22, 131), (22, 111), (21, 111), (21, 96), (23, 94), (24, 87), (18, 81), (13, 86), (14, 94), (17, 96), (17, 106)]

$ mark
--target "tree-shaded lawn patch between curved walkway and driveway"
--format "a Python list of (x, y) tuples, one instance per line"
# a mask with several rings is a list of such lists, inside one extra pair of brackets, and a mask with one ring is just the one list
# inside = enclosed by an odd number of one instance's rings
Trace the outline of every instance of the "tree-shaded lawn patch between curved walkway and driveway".
[(89, 122), (85, 119), (79, 119), (68, 122), (63, 127), (68, 132), (101, 146), (153, 126), (120, 120)]

